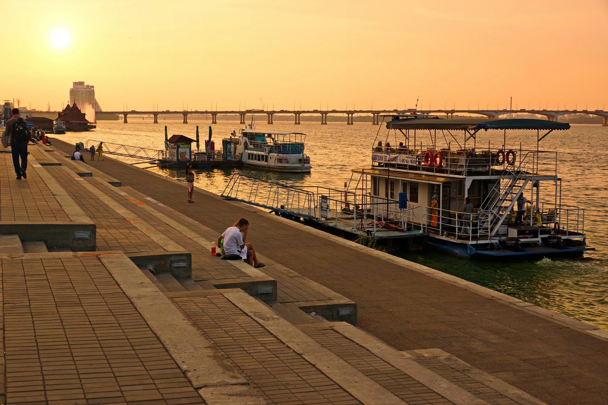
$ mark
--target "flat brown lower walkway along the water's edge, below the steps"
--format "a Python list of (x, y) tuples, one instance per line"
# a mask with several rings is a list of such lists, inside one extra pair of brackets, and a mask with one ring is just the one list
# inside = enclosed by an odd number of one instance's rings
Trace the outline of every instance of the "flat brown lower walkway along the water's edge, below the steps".
[(89, 165), (217, 234), (247, 217), (263, 256), (357, 302), (359, 326), (399, 350), (444, 350), (550, 404), (608, 401), (608, 342), (590, 325), (198, 190), (188, 204), (185, 184), (111, 158)]

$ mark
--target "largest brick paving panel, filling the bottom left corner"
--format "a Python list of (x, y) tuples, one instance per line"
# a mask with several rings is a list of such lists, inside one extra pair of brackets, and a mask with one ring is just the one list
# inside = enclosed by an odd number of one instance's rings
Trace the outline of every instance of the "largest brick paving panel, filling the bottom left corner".
[(3, 257), (0, 275), (7, 403), (204, 404), (98, 257)]

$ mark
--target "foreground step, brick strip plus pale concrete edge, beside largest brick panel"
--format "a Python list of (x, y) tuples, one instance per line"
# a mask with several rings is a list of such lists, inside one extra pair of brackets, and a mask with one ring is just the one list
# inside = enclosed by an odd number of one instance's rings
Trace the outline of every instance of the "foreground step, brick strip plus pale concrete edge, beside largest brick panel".
[[(168, 297), (269, 404), (485, 404), (450, 401), (420, 383), (403, 396), (407, 384), (416, 381), (410, 378), (395, 389), (383, 386), (388, 372), (375, 364), (367, 364), (372, 372), (349, 364), (344, 352), (326, 349), (242, 290), (182, 291)], [(295, 305), (278, 305), (272, 304), (288, 318), (299, 311)]]

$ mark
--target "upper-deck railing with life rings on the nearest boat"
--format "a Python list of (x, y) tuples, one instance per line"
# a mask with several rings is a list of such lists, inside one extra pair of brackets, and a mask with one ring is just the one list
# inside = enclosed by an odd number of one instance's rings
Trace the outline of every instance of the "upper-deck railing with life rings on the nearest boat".
[(556, 175), (557, 152), (526, 149), (450, 149), (417, 145), (416, 148), (374, 146), (372, 166), (436, 174), (475, 174), (496, 170), (515, 171), (523, 160), (533, 160), (531, 172)]

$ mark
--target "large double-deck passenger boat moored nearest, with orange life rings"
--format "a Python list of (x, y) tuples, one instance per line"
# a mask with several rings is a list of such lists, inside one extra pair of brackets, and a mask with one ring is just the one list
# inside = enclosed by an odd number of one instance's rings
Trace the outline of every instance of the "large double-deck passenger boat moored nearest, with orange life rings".
[[(386, 126), (386, 137), (374, 141), (371, 168), (353, 170), (361, 174), (353, 191), (399, 202), (378, 206), (382, 225), (406, 223), (428, 233), (430, 247), (460, 257), (581, 256), (594, 250), (586, 245), (584, 209), (561, 202), (557, 152), (539, 148), (550, 132), (570, 124), (409, 114), (390, 116)], [(534, 130), (536, 149), (508, 146), (507, 131), (523, 129)], [(499, 145), (480, 145), (481, 130), (504, 135)], [(529, 204), (518, 204), (520, 196)], [(463, 213), (465, 198), (470, 214)], [(525, 211), (518, 209), (522, 205)]]

